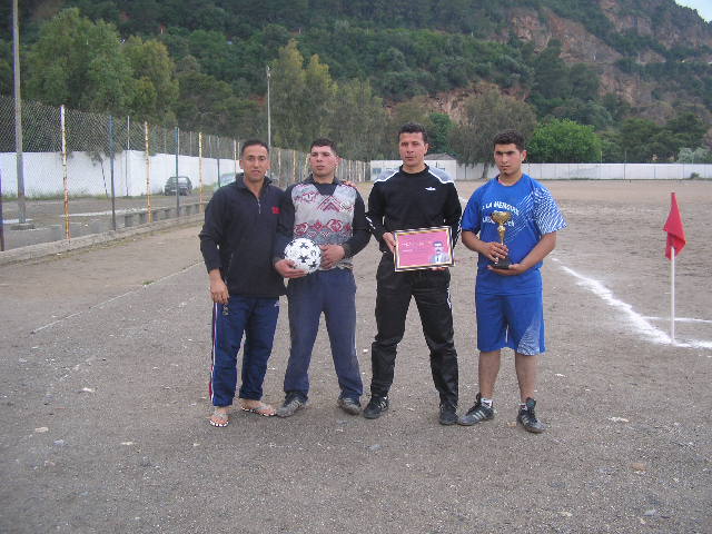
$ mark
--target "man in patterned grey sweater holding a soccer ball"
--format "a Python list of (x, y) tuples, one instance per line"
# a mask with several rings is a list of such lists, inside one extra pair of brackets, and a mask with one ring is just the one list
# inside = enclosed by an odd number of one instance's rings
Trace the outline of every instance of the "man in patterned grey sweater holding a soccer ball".
[[(352, 258), (368, 244), (364, 200), (352, 186), (336, 178), (339, 157), (329, 139), (316, 139), (309, 149), (312, 175), (285, 191), (275, 241), (275, 268), (289, 279), (289, 333), (291, 347), (285, 374), (285, 402), (277, 409), (289, 417), (306, 406), (309, 362), (324, 313), (332, 357), (342, 390), (338, 406), (360, 413), (363, 384), (356, 357), (356, 281)], [(322, 265), (310, 275), (284, 258), (287, 244), (297, 237), (322, 248)]]

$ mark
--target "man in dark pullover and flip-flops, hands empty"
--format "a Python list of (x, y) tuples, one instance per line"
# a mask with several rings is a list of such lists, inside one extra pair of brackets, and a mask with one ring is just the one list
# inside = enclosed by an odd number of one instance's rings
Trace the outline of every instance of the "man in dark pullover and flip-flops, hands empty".
[(283, 191), (271, 185), (269, 149), (248, 140), (240, 154), (243, 174), (219, 188), (205, 211), (200, 251), (210, 278), (212, 308), (212, 366), (210, 398), (212, 426), (227, 426), (228, 408), (237, 386), (237, 354), (243, 335), (240, 408), (275, 414), (264, 404), (263, 382), (271, 354), (281, 276), (273, 268), (273, 247)]

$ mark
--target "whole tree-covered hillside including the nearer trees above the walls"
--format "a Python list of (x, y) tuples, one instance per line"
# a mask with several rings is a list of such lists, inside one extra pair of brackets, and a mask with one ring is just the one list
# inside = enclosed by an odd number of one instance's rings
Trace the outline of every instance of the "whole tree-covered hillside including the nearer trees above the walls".
[(269, 65), (279, 146), (326, 134), (386, 156), (415, 118), (464, 160), (484, 121), (535, 146), (545, 126), (581, 135), (578, 160), (710, 156), (712, 24), (672, 0), (36, 0), (20, 14), (24, 98), (47, 103), (265, 136)]

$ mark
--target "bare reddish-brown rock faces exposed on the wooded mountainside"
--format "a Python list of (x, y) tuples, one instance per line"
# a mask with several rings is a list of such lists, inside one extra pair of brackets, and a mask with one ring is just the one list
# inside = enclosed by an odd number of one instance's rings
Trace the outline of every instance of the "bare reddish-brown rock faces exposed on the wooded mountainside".
[[(586, 2), (604, 16), (597, 23), (564, 16), (556, 8), (565, 3), (575, 2), (514, 2), (506, 23), (490, 37), (502, 43), (513, 38), (531, 43), (535, 53), (558, 41), (560, 57), (566, 65), (587, 65), (599, 73), (600, 98), (615, 95), (637, 116), (662, 122), (683, 103), (698, 106), (710, 120), (712, 23), (672, 0)], [(457, 117), (458, 102), (486, 87), (481, 83), (441, 92), (433, 102)], [(518, 85), (504, 91), (526, 98), (531, 86)]]

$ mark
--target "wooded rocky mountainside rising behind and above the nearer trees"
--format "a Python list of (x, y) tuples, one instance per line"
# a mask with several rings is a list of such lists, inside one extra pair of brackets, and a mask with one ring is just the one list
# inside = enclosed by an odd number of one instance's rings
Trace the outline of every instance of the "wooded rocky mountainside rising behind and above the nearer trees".
[[(542, 117), (595, 125), (610, 113), (610, 126), (692, 108), (712, 123), (712, 24), (673, 0), (28, 0), (26, 43), (68, 7), (126, 40), (161, 41), (178, 70), (195, 66), (258, 102), (265, 65), (295, 39), (335, 80), (367, 79), (387, 105), (429, 98), (453, 118), (463, 97), (495, 85)], [(7, 4), (0, 14), (4, 56)], [(0, 61), (0, 81), (8, 72)]]

